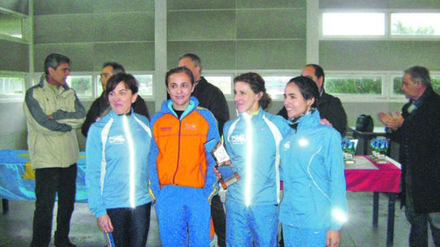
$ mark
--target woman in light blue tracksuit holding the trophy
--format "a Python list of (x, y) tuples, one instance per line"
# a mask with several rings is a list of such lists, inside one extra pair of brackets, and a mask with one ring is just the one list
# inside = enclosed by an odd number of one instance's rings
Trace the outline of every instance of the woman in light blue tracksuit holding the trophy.
[(263, 111), (270, 102), (256, 73), (234, 78), (238, 117), (223, 128), (224, 146), (241, 180), (226, 194), (226, 246), (276, 247), (278, 228), (278, 144), (290, 128)]

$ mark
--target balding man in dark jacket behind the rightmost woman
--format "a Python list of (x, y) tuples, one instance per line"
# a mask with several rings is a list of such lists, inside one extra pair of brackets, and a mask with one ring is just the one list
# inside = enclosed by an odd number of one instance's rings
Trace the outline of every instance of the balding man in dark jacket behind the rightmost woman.
[[(345, 134), (347, 115), (340, 100), (324, 90), (324, 70), (317, 64), (307, 64), (301, 72), (302, 76), (309, 77), (318, 86), (320, 92), (317, 108), (322, 123), (330, 123), (341, 136)], [(287, 119), (287, 111), (284, 107), (279, 110), (278, 115)]]

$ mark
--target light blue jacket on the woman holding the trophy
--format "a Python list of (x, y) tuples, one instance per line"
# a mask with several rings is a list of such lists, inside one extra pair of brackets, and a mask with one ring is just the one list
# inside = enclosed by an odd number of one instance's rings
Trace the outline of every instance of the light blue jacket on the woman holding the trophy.
[(246, 206), (279, 203), (278, 145), (290, 131), (285, 119), (261, 108), (225, 123), (224, 146), (241, 177), (228, 188), (227, 200)]

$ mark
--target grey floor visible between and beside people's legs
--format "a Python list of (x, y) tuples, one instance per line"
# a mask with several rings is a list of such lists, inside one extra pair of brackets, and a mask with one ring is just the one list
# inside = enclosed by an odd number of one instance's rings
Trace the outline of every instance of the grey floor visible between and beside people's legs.
[[(387, 194), (379, 195), (378, 227), (371, 227), (372, 193), (348, 192), (349, 220), (342, 232), (341, 247), (382, 247), (386, 245)], [(27, 247), (32, 233), (32, 215), (34, 202), (9, 201), (9, 213), (0, 214), (0, 247)], [(56, 207), (56, 206), (55, 206)], [(56, 208), (55, 208), (56, 212)], [(148, 247), (159, 247), (157, 219), (151, 212)], [(396, 201), (394, 246), (407, 246), (409, 224), (403, 210)], [(70, 240), (78, 247), (102, 247), (103, 235), (96, 226), (94, 216), (86, 204), (76, 204), (72, 216)], [(431, 241), (431, 240), (430, 240)], [(53, 241), (52, 241), (53, 244)], [(53, 246), (53, 245), (51, 245)], [(430, 246), (432, 242), (430, 242)]]

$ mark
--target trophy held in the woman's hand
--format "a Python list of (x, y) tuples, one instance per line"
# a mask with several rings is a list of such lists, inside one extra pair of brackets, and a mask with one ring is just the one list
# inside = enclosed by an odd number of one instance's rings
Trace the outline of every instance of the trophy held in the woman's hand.
[(206, 151), (212, 154), (215, 160), (215, 168), (221, 174), (220, 185), (223, 189), (235, 184), (240, 180), (240, 175), (235, 172), (231, 165), (230, 158), (226, 153), (221, 141), (215, 143), (215, 139), (212, 139), (204, 144)]

